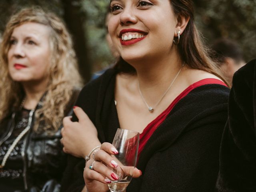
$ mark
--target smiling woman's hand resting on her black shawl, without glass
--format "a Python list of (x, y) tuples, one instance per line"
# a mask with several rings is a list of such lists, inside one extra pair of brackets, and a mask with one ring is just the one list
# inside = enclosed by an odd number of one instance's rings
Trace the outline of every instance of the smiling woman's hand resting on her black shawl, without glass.
[(62, 144), (65, 153), (84, 158), (95, 147), (100, 146), (98, 132), (87, 114), (80, 107), (74, 107), (78, 122), (72, 122), (71, 116), (63, 119)]

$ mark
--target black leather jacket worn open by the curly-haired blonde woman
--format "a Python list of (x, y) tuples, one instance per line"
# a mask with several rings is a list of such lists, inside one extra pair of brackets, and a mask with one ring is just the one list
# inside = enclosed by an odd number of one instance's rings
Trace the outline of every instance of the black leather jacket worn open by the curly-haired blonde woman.
[[(66, 110), (65, 116), (72, 114), (72, 107), (78, 96), (74, 91)], [(42, 107), (40, 102), (36, 107)], [(34, 110), (30, 111), (31, 128), (24, 136), (22, 148), (23, 180), (26, 192), (58, 192), (60, 180), (66, 165), (66, 154), (60, 143), (62, 126), (54, 134), (36, 133), (33, 130)], [(7, 140), (14, 129), (15, 112), (5, 118), (0, 124), (0, 145)], [(40, 125), (42, 126), (42, 125)], [(20, 191), (17, 191), (20, 192)]]

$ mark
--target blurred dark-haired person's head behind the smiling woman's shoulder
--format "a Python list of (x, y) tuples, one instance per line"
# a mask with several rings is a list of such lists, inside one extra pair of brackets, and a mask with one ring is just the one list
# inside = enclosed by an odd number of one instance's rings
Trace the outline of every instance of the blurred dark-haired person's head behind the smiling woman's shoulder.
[(212, 44), (212, 50), (212, 59), (218, 63), (223, 76), (232, 85), (234, 73), (245, 64), (242, 49), (235, 41), (221, 38)]

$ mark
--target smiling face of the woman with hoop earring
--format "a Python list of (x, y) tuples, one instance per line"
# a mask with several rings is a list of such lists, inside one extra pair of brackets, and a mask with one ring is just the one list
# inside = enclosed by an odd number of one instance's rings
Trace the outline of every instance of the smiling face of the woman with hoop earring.
[(127, 62), (170, 54), (176, 19), (170, 0), (111, 0), (108, 30)]

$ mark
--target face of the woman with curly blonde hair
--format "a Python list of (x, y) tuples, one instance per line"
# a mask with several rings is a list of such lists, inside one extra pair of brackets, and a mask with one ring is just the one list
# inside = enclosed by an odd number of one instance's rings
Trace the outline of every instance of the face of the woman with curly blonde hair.
[(27, 22), (16, 28), (10, 38), (8, 70), (17, 82), (46, 82), (50, 63), (50, 28)]

